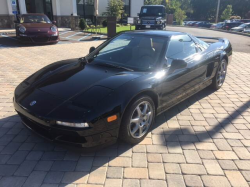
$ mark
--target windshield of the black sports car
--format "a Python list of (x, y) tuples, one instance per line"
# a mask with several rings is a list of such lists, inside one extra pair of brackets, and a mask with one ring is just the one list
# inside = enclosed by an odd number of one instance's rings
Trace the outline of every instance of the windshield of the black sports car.
[(112, 65), (136, 71), (150, 71), (156, 67), (167, 38), (121, 34), (104, 47), (87, 56), (89, 62)]

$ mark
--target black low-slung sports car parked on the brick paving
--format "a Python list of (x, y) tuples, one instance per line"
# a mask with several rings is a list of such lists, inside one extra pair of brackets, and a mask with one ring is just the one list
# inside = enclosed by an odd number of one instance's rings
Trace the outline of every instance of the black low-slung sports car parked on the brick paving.
[(227, 39), (126, 32), (31, 75), (16, 88), (14, 106), (28, 128), (52, 141), (96, 148), (119, 137), (135, 144), (157, 114), (209, 85), (221, 88), (231, 57)]

